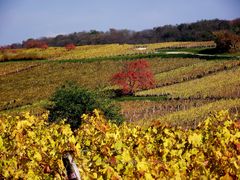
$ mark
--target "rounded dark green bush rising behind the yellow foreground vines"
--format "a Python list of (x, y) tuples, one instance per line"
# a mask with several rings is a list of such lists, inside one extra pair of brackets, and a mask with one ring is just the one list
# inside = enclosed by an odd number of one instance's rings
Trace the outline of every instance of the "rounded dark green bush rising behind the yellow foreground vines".
[(97, 92), (78, 87), (74, 83), (63, 85), (53, 94), (51, 101), (53, 104), (49, 110), (49, 121), (59, 122), (66, 119), (72, 129), (77, 129), (81, 123), (81, 116), (91, 113), (94, 109), (101, 110), (107, 119), (121, 124), (122, 116), (119, 109), (112, 104), (110, 99)]

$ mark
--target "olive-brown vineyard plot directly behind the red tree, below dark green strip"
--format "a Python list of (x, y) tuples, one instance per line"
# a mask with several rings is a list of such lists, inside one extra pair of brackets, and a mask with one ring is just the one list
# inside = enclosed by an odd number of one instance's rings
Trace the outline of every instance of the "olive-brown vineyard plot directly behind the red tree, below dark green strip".
[[(160, 73), (183, 66), (189, 66), (198, 59), (151, 59), (152, 71)], [(120, 70), (125, 61), (101, 61), (92, 63), (40, 63), (14, 62), (0, 64), (0, 109), (11, 109), (47, 99), (65, 81), (76, 81), (88, 88), (110, 86), (111, 75)], [(27, 69), (20, 73), (19, 69)], [(10, 73), (10, 74), (9, 74)], [(8, 74), (8, 75), (7, 75)], [(101, 74), (101, 76), (99, 76)], [(17, 88), (15, 88), (17, 87)], [(39, 90), (41, 89), (41, 91)]]

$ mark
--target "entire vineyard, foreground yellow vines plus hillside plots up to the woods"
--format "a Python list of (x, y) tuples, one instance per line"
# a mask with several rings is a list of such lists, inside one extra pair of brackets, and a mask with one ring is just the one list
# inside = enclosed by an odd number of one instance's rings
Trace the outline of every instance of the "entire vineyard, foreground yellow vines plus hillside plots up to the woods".
[[(1, 50), (0, 179), (66, 179), (66, 153), (82, 179), (239, 179), (240, 60), (193, 56), (214, 46)], [(155, 84), (124, 94), (112, 77), (138, 59)], [(51, 97), (66, 82), (109, 98), (125, 122), (94, 110), (76, 130), (64, 120), (50, 123)]]

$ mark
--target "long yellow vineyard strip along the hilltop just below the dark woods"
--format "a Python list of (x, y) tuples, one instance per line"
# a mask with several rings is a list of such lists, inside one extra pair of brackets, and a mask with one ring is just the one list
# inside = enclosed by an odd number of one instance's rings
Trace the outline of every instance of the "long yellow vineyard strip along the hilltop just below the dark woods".
[[(96, 57), (109, 57), (127, 54), (152, 53), (156, 49), (164, 48), (194, 48), (213, 47), (213, 41), (206, 42), (164, 42), (156, 44), (129, 45), (129, 44), (107, 44), (77, 46), (76, 49), (68, 51), (64, 47), (50, 47), (48, 49), (17, 49), (0, 52), (0, 61), (19, 59), (84, 59)], [(144, 47), (139, 49), (138, 47)]]

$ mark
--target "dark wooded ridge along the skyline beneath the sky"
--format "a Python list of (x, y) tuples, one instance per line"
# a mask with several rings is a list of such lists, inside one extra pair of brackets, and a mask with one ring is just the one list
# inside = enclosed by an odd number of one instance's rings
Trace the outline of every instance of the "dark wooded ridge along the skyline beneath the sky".
[[(91, 30), (89, 32), (75, 32), (68, 35), (56, 37), (43, 37), (41, 40), (48, 46), (65, 46), (66, 44), (93, 45), (93, 44), (144, 44), (166, 41), (209, 41), (214, 39), (212, 32), (219, 30), (230, 30), (240, 35), (240, 18), (235, 20), (201, 20), (194, 23), (183, 23), (179, 25), (165, 25), (143, 31), (116, 30), (102, 32)], [(12, 44), (14, 47), (24, 47), (33, 39), (23, 41), (22, 44)]]

